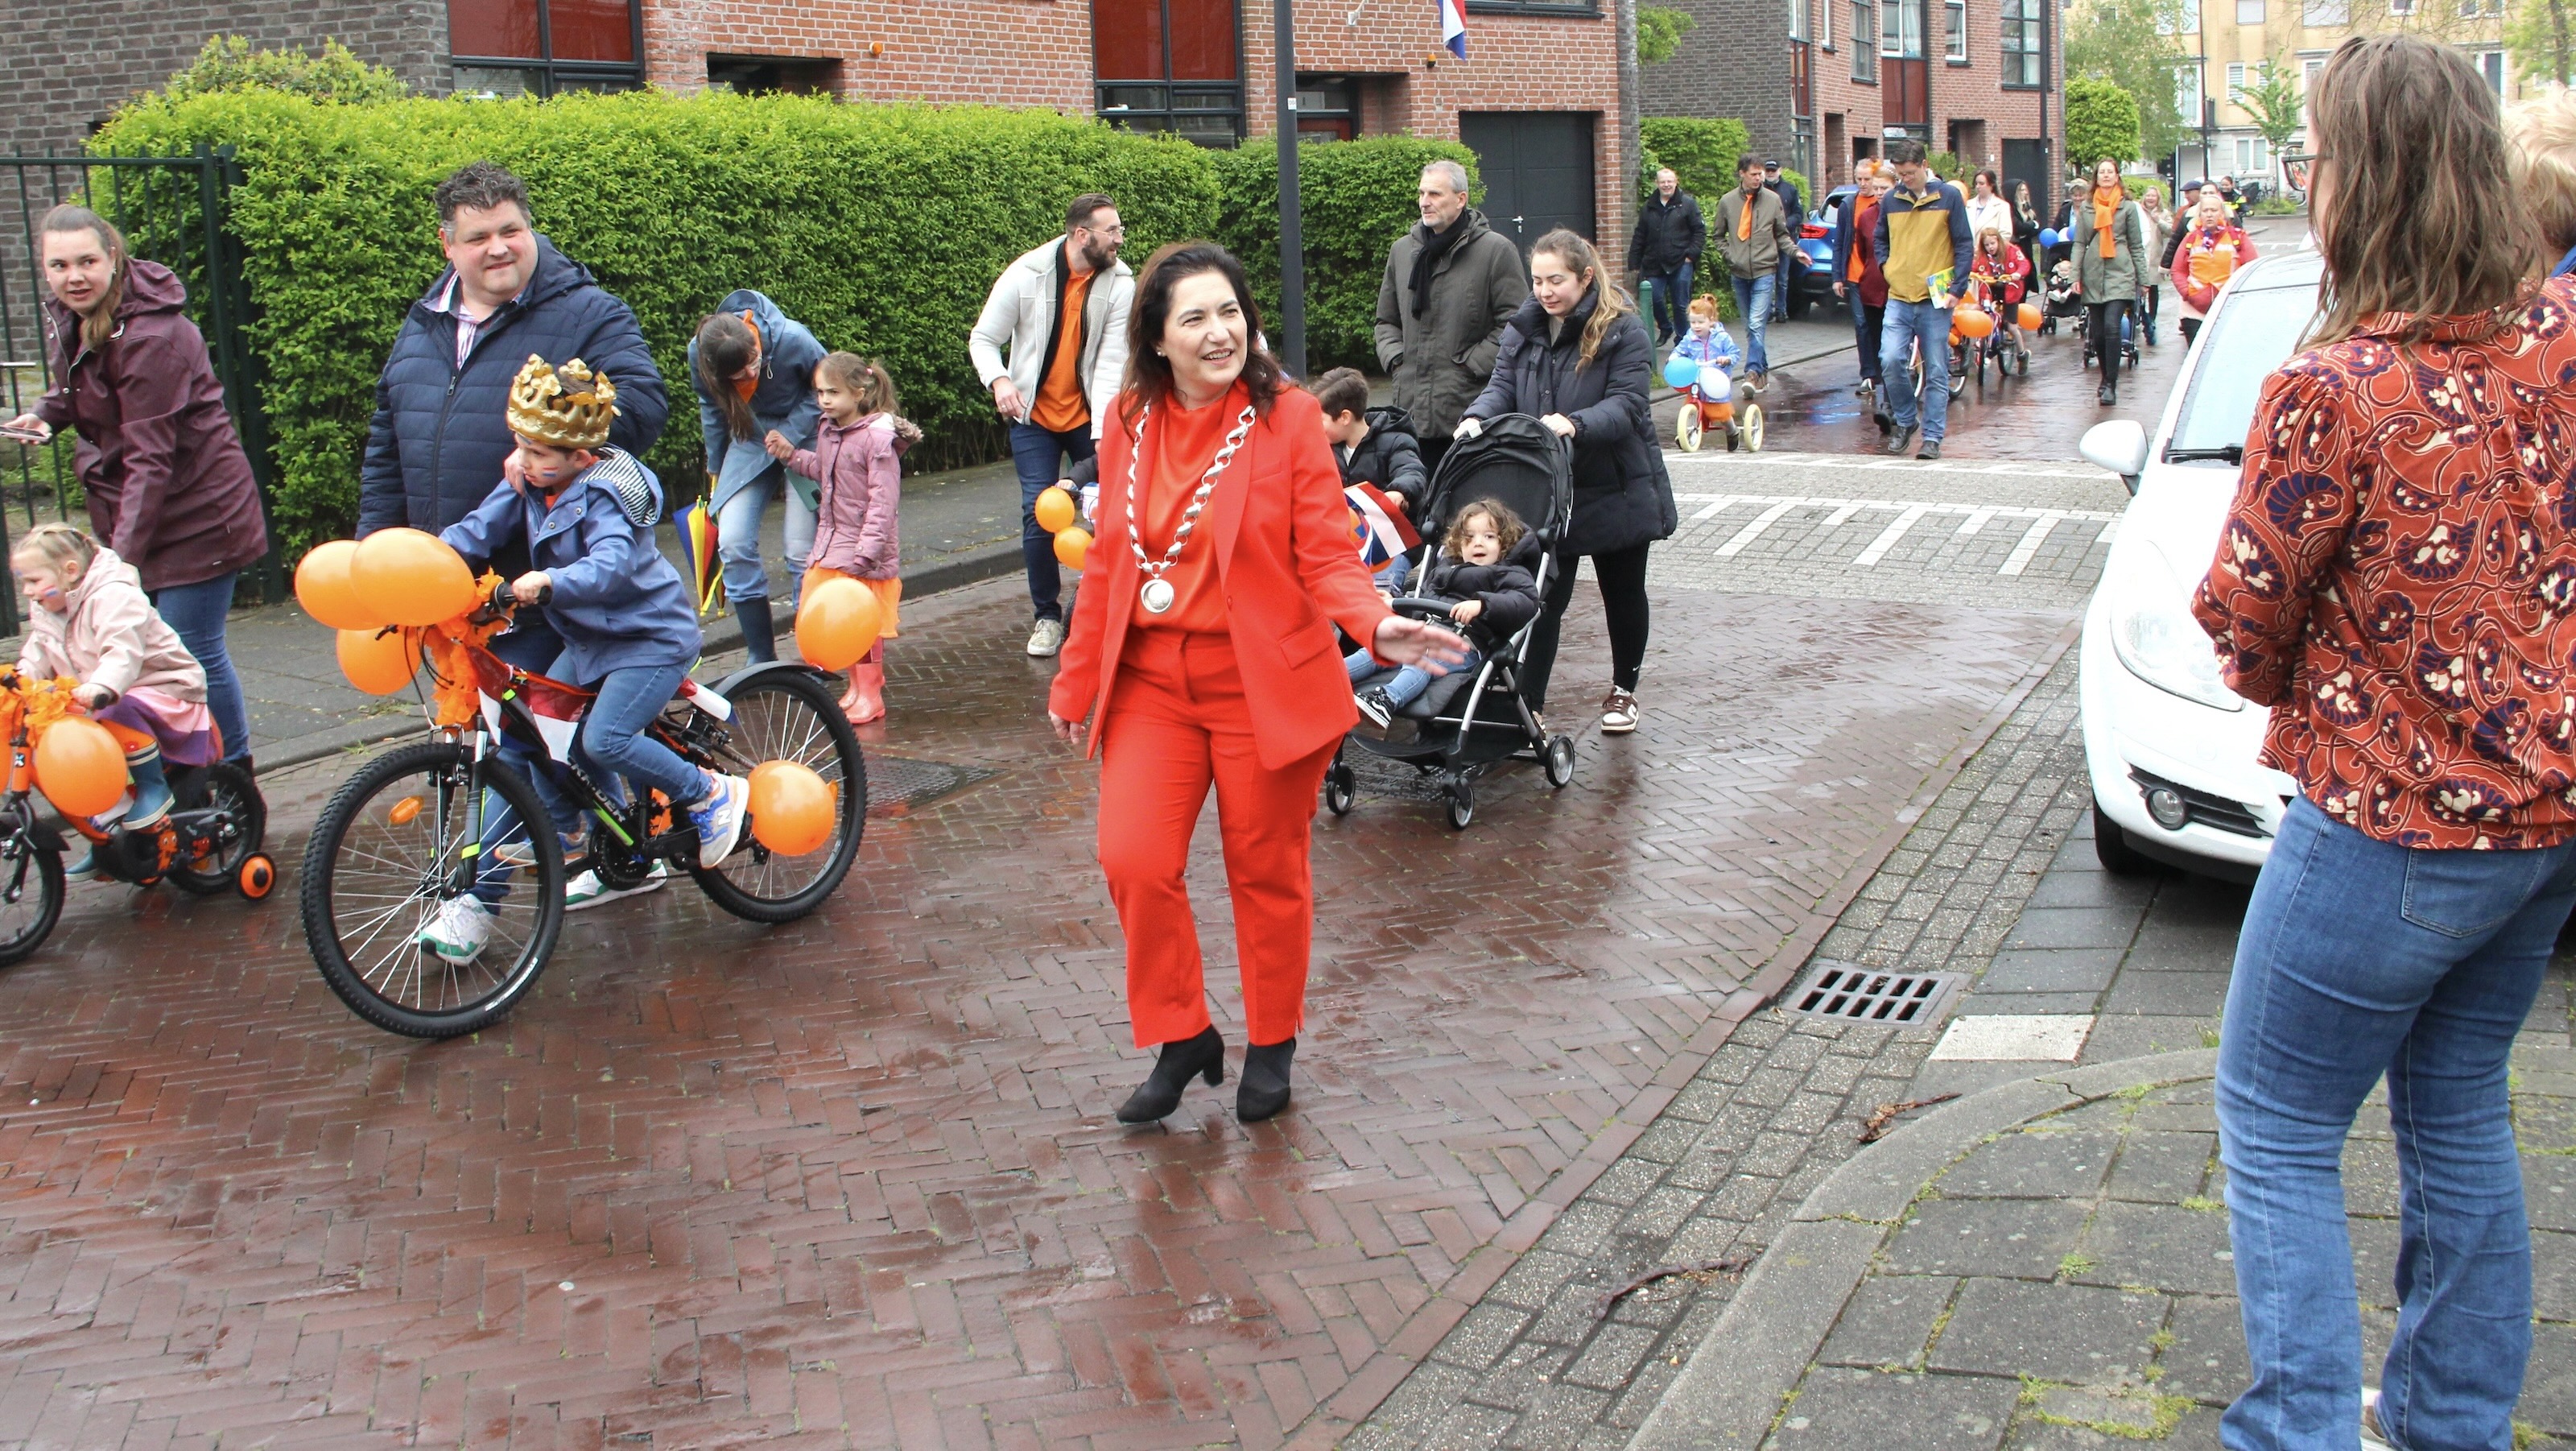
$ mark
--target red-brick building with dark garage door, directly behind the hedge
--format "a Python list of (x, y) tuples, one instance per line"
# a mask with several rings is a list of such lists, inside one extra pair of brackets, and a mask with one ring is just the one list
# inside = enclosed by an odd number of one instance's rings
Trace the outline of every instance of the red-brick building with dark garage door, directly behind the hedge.
[[(1265, 0), (448, 0), (459, 88), (708, 82), (868, 101), (1051, 106), (1231, 147), (1275, 134)], [(1298, 129), (1463, 139), (1486, 214), (1625, 247), (1607, 0), (1468, 0), (1468, 57), (1432, 0), (1298, 0)]]

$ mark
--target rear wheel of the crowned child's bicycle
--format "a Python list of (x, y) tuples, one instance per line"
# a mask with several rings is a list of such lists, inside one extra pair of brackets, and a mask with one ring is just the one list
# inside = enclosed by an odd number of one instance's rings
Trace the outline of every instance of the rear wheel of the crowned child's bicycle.
[(690, 863), (690, 876), (726, 912), (752, 923), (793, 923), (829, 897), (858, 861), (858, 832), (868, 820), (868, 763), (858, 732), (832, 696), (799, 670), (768, 670), (724, 693), (734, 704), (726, 745), (706, 765), (750, 776), (762, 760), (814, 768), (835, 791), (832, 840), (778, 856), (742, 832), (742, 848), (716, 866)]

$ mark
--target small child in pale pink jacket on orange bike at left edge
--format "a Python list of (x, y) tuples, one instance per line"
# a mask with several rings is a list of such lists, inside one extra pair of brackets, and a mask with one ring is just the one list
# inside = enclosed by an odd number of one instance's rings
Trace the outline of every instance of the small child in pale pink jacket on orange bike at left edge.
[[(224, 758), (222, 732), (206, 709), (206, 668), (152, 613), (134, 564), (70, 523), (26, 531), (8, 562), (18, 575), (18, 593), (36, 606), (28, 611), (26, 644), (18, 647), (18, 675), (80, 680), (75, 696), (126, 750), (131, 789), (90, 817), (90, 825), (157, 827), (170, 814), (162, 760), (214, 765)], [(95, 858), (80, 853), (64, 876), (98, 876)]]

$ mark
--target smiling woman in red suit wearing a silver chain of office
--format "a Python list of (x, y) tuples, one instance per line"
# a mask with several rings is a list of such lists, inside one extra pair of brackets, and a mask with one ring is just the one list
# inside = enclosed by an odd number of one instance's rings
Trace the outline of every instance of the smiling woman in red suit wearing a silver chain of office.
[(1193, 1075), (1226, 1077), (1182, 884), (1208, 786), (1252, 1039), (1236, 1111), (1255, 1121), (1288, 1106), (1314, 936), (1314, 796), (1360, 719), (1332, 626), (1391, 665), (1437, 670), (1466, 647), (1378, 598), (1350, 544), (1321, 410), (1255, 338), (1252, 289), (1224, 247), (1180, 242), (1146, 263), (1121, 425), (1100, 441), (1100, 536), (1046, 701), (1066, 742), (1092, 722), (1128, 1015), (1136, 1046), (1162, 1044), (1118, 1106), (1126, 1124), (1172, 1113)]

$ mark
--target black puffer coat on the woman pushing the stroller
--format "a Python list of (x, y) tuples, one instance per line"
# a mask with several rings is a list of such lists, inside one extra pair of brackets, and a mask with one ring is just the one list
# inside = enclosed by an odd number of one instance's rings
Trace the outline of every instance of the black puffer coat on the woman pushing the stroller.
[(1592, 363), (1577, 366), (1597, 304), (1600, 286), (1574, 304), (1551, 345), (1548, 312), (1535, 296), (1525, 302), (1502, 330), (1494, 381), (1466, 410), (1468, 418), (1564, 412), (1574, 420), (1574, 523), (1558, 549), (1566, 559), (1669, 539), (1677, 523), (1646, 402), (1654, 340), (1628, 312), (1610, 325)]

